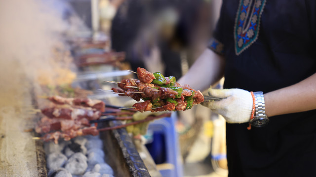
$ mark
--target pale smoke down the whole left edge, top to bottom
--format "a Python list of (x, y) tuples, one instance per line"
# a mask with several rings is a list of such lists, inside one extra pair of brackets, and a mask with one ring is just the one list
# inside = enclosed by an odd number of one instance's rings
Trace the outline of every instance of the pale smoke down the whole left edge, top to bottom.
[(75, 77), (63, 40), (79, 29), (86, 30), (65, 1), (0, 0), (0, 174), (38, 176), (33, 135), (24, 132), (35, 115), (26, 110), (40, 85)]

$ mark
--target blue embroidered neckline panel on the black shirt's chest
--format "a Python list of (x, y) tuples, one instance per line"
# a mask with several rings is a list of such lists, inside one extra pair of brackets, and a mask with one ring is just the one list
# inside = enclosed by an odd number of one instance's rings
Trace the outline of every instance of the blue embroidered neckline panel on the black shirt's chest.
[(240, 0), (234, 29), (236, 55), (257, 40), (265, 4), (266, 0)]

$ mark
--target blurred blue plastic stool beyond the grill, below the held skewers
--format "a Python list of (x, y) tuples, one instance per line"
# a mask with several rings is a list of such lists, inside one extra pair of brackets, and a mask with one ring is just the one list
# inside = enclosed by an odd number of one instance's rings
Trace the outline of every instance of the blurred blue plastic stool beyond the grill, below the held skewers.
[(183, 169), (178, 143), (178, 135), (175, 129), (176, 113), (170, 118), (161, 118), (150, 123), (148, 131), (153, 132), (154, 141), (147, 146), (154, 161), (159, 165), (166, 165), (160, 170), (162, 177), (182, 177)]

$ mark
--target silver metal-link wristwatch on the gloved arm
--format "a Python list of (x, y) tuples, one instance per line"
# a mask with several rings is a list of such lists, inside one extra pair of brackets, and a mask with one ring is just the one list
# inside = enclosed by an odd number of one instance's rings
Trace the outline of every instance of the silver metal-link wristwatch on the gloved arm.
[(262, 91), (253, 92), (255, 96), (255, 115), (250, 120), (250, 124), (255, 127), (263, 127), (268, 124), (269, 118), (266, 115), (265, 98)]

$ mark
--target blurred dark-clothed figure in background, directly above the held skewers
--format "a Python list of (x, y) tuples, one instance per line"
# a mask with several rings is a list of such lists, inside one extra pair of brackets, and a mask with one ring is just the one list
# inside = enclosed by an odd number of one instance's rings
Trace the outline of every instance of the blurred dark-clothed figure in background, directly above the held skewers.
[(166, 40), (177, 23), (175, 7), (176, 3), (168, 0), (126, 0), (118, 8), (111, 28), (112, 48), (126, 52), (133, 70), (145, 67), (181, 76), (180, 55)]

